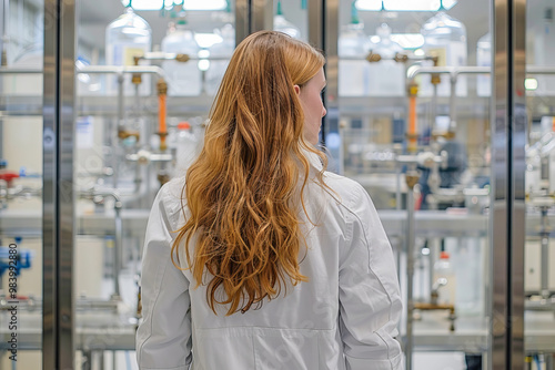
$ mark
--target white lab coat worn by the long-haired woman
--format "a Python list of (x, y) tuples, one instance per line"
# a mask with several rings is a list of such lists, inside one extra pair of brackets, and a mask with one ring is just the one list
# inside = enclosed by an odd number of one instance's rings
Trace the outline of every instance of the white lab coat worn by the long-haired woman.
[[(317, 161), (312, 158), (313, 166)], [(147, 227), (139, 368), (174, 370), (403, 369), (397, 336), (402, 302), (392, 248), (377, 213), (357, 183), (325, 173), (324, 192), (311, 182), (300, 258), (310, 281), (245, 314), (215, 316), (206, 289), (170, 260), (184, 215), (183, 182), (158, 194)], [(186, 210), (186, 206), (185, 206)], [(186, 259), (180, 254), (184, 267)]]

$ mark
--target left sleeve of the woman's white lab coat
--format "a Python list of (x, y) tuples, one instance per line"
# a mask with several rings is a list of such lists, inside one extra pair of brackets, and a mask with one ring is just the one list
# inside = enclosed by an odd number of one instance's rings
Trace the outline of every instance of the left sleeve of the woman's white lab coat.
[(176, 225), (164, 206), (167, 194), (162, 187), (147, 226), (141, 273), (143, 320), (135, 345), (141, 370), (185, 370), (192, 358), (189, 281), (171, 261), (171, 230)]

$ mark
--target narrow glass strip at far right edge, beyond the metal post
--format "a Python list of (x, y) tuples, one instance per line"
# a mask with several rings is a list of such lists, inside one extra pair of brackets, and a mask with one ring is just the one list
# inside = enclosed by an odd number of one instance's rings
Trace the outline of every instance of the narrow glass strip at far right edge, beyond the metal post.
[(526, 3), (525, 350), (533, 368), (553, 369), (555, 352), (555, 22), (554, 3)]

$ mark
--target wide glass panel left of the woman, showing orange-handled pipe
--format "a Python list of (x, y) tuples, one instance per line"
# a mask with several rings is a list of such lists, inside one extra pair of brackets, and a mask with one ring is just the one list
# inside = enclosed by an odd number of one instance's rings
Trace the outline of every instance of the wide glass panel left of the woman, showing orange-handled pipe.
[(74, 270), (77, 360), (84, 368), (137, 367), (147, 219), (161, 184), (184, 175), (191, 147), (202, 143), (235, 47), (234, 20), (234, 1), (186, 12), (79, 2)]

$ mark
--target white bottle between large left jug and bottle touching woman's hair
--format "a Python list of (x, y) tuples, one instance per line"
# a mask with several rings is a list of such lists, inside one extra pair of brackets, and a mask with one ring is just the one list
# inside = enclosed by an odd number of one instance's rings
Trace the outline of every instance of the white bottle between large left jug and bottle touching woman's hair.
[[(194, 33), (188, 29), (186, 21), (181, 18), (175, 28), (169, 29), (162, 40), (162, 51), (167, 53), (181, 53), (198, 56), (199, 44), (194, 40)], [(194, 60), (178, 62), (164, 61), (162, 68), (168, 76), (168, 95), (170, 96), (196, 96), (202, 90), (202, 74)]]

